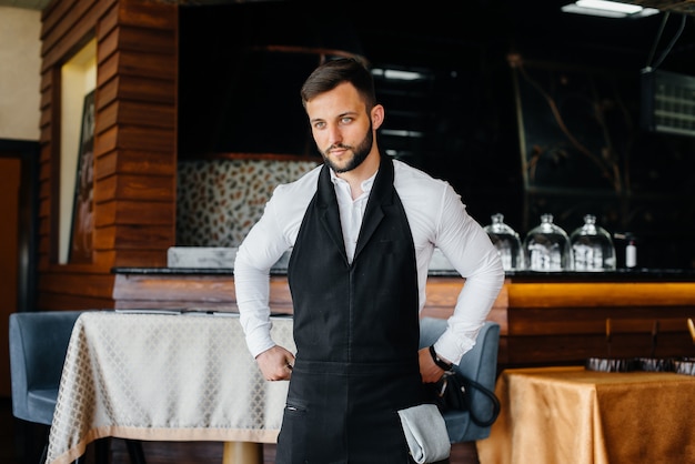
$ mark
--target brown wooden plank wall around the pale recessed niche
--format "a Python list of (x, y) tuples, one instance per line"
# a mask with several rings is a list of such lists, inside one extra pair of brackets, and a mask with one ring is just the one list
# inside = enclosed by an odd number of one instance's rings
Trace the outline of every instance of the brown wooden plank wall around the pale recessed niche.
[[(89, 264), (58, 264), (60, 69), (97, 38)], [(112, 307), (113, 266), (161, 266), (175, 242), (178, 6), (56, 0), (42, 16), (38, 309)]]

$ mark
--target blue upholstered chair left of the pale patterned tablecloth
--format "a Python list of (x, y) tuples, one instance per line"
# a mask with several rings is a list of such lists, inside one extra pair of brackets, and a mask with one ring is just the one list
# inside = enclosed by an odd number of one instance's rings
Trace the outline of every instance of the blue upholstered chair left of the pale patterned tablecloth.
[[(81, 313), (44, 311), (10, 314), (10, 374), (14, 417), (30, 424), (51, 425), (70, 335)], [(131, 440), (125, 442), (131, 462), (144, 464), (141, 443)], [(46, 461), (47, 452), (48, 435), (39, 461), (41, 464)], [(108, 453), (108, 447), (104, 451), (100, 446), (98, 458), (103, 460), (104, 452)]]

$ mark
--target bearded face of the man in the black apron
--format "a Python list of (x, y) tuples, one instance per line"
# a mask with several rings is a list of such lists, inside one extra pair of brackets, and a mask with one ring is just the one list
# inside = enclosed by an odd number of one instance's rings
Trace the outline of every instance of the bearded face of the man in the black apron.
[(306, 113), (316, 147), (333, 171), (352, 171), (372, 151), (372, 118), (352, 84), (342, 83), (306, 102)]

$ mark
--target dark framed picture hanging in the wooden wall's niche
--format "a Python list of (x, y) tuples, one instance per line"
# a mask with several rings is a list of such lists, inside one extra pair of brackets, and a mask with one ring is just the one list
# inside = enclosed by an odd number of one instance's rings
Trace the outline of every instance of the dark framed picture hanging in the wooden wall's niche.
[(84, 97), (70, 231), (71, 263), (91, 263), (94, 229), (94, 91)]

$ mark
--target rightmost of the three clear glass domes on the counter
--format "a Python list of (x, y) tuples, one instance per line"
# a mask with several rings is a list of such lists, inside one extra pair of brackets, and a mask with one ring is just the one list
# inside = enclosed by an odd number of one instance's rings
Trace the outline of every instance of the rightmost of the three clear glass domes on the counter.
[(615, 246), (611, 234), (596, 225), (596, 216), (586, 214), (584, 225), (570, 235), (575, 271), (614, 271)]

